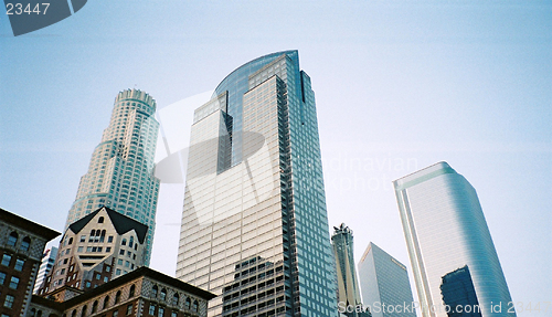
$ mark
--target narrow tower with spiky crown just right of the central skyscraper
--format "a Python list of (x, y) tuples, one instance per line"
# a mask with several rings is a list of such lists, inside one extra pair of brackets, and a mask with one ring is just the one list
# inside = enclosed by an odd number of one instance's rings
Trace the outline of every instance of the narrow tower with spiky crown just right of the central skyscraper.
[(346, 306), (361, 305), (359, 281), (354, 270), (354, 255), (352, 245), (352, 230), (341, 223), (331, 236), (333, 256), (336, 257), (336, 271), (338, 274), (338, 303)]

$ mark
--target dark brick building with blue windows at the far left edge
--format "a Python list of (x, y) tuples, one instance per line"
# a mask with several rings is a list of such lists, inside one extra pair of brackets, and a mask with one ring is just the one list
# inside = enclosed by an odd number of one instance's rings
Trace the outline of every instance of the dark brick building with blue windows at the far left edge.
[(0, 209), (0, 314), (26, 316), (46, 243), (60, 235)]

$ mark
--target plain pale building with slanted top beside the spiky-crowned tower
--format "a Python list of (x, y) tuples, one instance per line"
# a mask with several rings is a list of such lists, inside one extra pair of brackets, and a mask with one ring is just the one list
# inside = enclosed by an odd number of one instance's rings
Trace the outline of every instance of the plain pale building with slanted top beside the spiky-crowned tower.
[(359, 278), (373, 317), (416, 317), (406, 266), (372, 242), (359, 262)]

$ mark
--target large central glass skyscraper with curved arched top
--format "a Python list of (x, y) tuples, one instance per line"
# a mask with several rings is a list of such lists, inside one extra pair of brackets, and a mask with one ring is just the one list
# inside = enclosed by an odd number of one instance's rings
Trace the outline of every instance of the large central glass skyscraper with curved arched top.
[(210, 316), (337, 316), (315, 96), (297, 51), (224, 78), (191, 131), (177, 277)]

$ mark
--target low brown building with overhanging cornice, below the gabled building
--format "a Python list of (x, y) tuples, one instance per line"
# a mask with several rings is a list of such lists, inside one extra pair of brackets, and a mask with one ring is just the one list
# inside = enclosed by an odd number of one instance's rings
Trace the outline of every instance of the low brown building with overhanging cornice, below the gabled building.
[[(55, 296), (56, 293), (65, 296)], [(24, 316), (205, 317), (208, 302), (214, 297), (210, 292), (142, 266), (87, 292), (63, 285), (51, 298), (34, 295)]]

